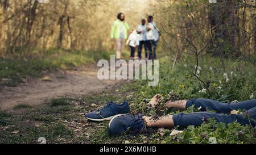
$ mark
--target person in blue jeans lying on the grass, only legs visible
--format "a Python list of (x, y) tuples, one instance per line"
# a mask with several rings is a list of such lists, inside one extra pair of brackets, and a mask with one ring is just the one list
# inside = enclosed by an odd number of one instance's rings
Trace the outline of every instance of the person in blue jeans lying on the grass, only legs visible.
[[(256, 124), (256, 99), (246, 100), (239, 103), (222, 103), (216, 100), (210, 99), (191, 99), (191, 100), (178, 100), (176, 102), (168, 101), (165, 106), (167, 108), (175, 108), (177, 110), (187, 110), (187, 108), (194, 106), (195, 108), (200, 108), (201, 112), (194, 112), (191, 114), (180, 114), (163, 116), (162, 118), (153, 119), (143, 114), (131, 115), (127, 108), (127, 102), (116, 105), (113, 102), (108, 104), (108, 110), (104, 108), (99, 110), (96, 115), (102, 116), (112, 114), (112, 119), (110, 120), (108, 131), (111, 136), (118, 136), (126, 132), (129, 128), (130, 130), (138, 130), (144, 128), (174, 128), (177, 126), (188, 127), (189, 125), (200, 126), (208, 119), (214, 118), (217, 122), (222, 122), (225, 124), (238, 122), (242, 125), (251, 125), (255, 127)], [(118, 112), (118, 108), (126, 107), (126, 111)], [(118, 107), (118, 108), (116, 108)], [(130, 107), (129, 107), (130, 110)], [(209, 112), (209, 111), (216, 112)], [(242, 114), (233, 114), (234, 111), (245, 110)], [(102, 113), (101, 113), (102, 112)], [(101, 115), (102, 114), (102, 115)], [(87, 116), (92, 116), (88, 115)], [(94, 116), (96, 116), (94, 115)]]

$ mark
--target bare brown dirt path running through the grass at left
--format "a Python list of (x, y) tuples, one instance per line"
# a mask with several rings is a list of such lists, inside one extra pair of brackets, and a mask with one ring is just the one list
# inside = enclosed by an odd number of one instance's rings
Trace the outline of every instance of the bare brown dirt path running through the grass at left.
[(38, 105), (57, 97), (79, 97), (102, 91), (117, 84), (118, 81), (100, 81), (97, 68), (82, 66), (71, 71), (59, 70), (47, 73), (41, 79), (31, 79), (17, 87), (5, 87), (0, 91), (0, 107), (10, 110), (18, 104)]

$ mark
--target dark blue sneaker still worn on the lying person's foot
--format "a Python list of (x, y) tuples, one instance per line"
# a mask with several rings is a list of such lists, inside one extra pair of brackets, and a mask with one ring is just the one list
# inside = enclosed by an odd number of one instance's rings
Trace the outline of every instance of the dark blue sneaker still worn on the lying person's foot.
[(110, 120), (109, 123), (109, 135), (119, 136), (122, 133), (125, 133), (128, 128), (130, 128), (131, 131), (143, 129), (146, 127), (146, 125), (144, 124), (142, 116), (142, 114), (114, 116), (114, 118)]

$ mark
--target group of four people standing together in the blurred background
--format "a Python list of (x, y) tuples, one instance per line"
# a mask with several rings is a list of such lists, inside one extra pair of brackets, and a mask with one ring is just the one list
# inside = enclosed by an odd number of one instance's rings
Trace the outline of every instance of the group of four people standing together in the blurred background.
[(125, 15), (123, 13), (117, 15), (117, 20), (114, 21), (111, 31), (111, 38), (115, 39), (117, 45), (117, 60), (121, 59), (122, 48), (126, 39), (126, 45), (129, 45), (131, 49), (130, 59), (135, 58), (135, 51), (138, 50), (138, 58), (141, 60), (143, 47), (146, 60), (156, 59), (159, 30), (153, 20), (154, 18), (151, 15), (147, 17), (147, 20), (142, 19), (137, 29), (134, 29), (128, 36), (130, 26), (125, 22)]

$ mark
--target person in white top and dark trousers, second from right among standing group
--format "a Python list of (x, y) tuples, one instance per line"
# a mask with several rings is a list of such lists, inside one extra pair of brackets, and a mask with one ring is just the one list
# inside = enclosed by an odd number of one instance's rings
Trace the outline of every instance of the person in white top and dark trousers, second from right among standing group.
[(142, 54), (142, 48), (144, 45), (144, 49), (145, 49), (145, 59), (148, 59), (148, 53), (147, 53), (147, 45), (146, 45), (146, 40), (147, 40), (147, 36), (146, 36), (146, 32), (147, 32), (147, 27), (146, 27), (146, 19), (142, 19), (141, 20), (141, 24), (137, 27), (137, 32), (139, 33), (139, 47), (138, 47), (138, 56), (139, 59), (142, 58), (141, 54)]

